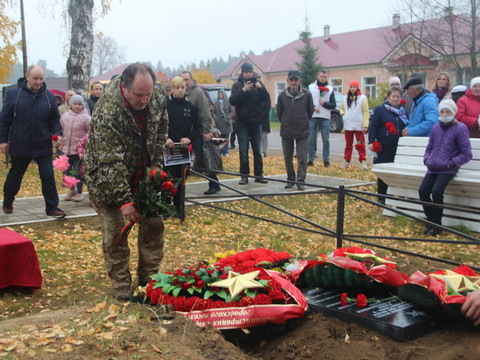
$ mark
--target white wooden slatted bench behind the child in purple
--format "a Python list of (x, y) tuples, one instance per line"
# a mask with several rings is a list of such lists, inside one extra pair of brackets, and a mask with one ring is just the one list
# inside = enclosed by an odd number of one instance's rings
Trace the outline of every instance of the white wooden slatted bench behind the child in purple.
[[(462, 166), (445, 189), (445, 205), (468, 207), (480, 211), (480, 139), (470, 139), (473, 159)], [(428, 137), (401, 137), (393, 163), (374, 164), (372, 171), (388, 185), (388, 195), (418, 200), (418, 188), (427, 172), (423, 154)], [(386, 205), (424, 218), (420, 204), (387, 199)], [(396, 216), (384, 210), (384, 215)], [(443, 225), (466, 225), (480, 232), (480, 216), (462, 211), (445, 209)]]

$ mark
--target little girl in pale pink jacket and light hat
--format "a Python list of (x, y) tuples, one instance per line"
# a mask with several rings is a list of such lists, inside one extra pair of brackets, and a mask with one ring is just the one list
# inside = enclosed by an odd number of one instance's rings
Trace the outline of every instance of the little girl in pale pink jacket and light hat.
[(72, 187), (65, 197), (66, 201), (83, 201), (83, 176), (80, 172), (82, 159), (78, 154), (78, 145), (82, 138), (90, 130), (90, 115), (85, 110), (85, 102), (80, 95), (74, 95), (70, 99), (70, 110), (60, 118), (63, 132), (62, 151), (68, 156), (70, 167), (67, 175), (74, 176), (79, 182)]

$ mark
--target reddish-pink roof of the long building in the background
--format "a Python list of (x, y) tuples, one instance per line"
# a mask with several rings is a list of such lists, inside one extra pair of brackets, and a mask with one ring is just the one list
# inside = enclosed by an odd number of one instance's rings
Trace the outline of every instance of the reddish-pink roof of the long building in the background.
[[(455, 16), (454, 25), (457, 32), (468, 31), (468, 25), (461, 16)], [(397, 28), (392, 26), (384, 26), (374, 29), (359, 30), (346, 32), (342, 34), (330, 34), (327, 37), (318, 36), (311, 38), (311, 44), (317, 48), (317, 60), (325, 68), (338, 68), (345, 66), (358, 66), (377, 64), (384, 61), (392, 52), (398, 49), (402, 41), (408, 38), (418, 40), (415, 35), (419, 32), (418, 28), (422, 27), (424, 33), (425, 28), (432, 30), (428, 33), (430, 46), (425, 46), (432, 52), (437, 52), (436, 48), (441, 48), (441, 52), (451, 52), (453, 49), (445, 47), (448, 44), (448, 27), (449, 23), (445, 18), (427, 20), (424, 23), (408, 23), (401, 24)], [(428, 31), (427, 31), (428, 32)], [(467, 53), (468, 44), (462, 40), (455, 42), (456, 53)], [(301, 56), (297, 50), (304, 47), (301, 40), (292, 41), (276, 50), (265, 55), (249, 55), (248, 60), (251, 61), (262, 73), (285, 72), (290, 69), (297, 69), (297, 63), (301, 62)], [(419, 55), (422, 64), (433, 64), (432, 59), (428, 59), (423, 55)], [(240, 67), (245, 59), (239, 59), (227, 69), (220, 73), (220, 77), (231, 76)], [(410, 63), (412, 57), (408, 56), (403, 62)], [(395, 65), (397, 60), (392, 60), (391, 66)], [(388, 65), (388, 64), (386, 64)]]

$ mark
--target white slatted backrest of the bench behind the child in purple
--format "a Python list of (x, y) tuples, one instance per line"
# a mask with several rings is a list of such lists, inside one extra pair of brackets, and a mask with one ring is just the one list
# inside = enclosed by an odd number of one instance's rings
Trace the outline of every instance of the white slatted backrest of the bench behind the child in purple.
[[(465, 170), (480, 171), (480, 139), (470, 139), (473, 158), (462, 166)], [(423, 154), (428, 144), (428, 137), (405, 136), (398, 142), (395, 164), (423, 165)]]

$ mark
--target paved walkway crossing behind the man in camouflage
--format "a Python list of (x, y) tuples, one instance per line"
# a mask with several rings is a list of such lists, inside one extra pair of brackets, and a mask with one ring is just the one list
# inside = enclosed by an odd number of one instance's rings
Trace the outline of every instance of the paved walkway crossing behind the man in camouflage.
[[(238, 179), (222, 180), (222, 190), (215, 195), (204, 195), (207, 190), (207, 182), (188, 183), (186, 197), (195, 201), (206, 203), (213, 201), (238, 200), (246, 198), (249, 195), (280, 195), (280, 194), (300, 194), (318, 191), (318, 187), (307, 186), (305, 191), (298, 191), (296, 187), (285, 189), (285, 182), (274, 180), (285, 180), (285, 175), (274, 175), (267, 177), (272, 179), (268, 184), (259, 184), (250, 179), (247, 185), (238, 185)], [(315, 174), (308, 174), (308, 181), (311, 184), (319, 186), (338, 187), (357, 187), (373, 184), (372, 182), (341, 179), (327, 177)], [(240, 191), (241, 193), (236, 192)], [(95, 210), (89, 205), (88, 194), (85, 194), (83, 202), (64, 201), (65, 195), (60, 195), (59, 207), (67, 213), (68, 218), (96, 216)], [(186, 205), (192, 205), (187, 201)], [(17, 198), (13, 203), (13, 214), (5, 214), (0, 210), (0, 227), (8, 225), (20, 225), (42, 221), (58, 221), (57, 219), (45, 214), (45, 203), (43, 197)]]

